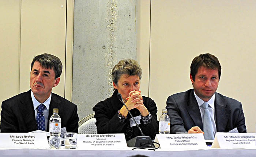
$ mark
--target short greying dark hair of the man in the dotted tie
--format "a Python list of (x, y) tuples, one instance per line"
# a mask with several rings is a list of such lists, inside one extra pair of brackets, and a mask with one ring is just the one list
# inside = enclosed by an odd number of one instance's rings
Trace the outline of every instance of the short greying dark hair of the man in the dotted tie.
[(32, 70), (35, 62), (39, 62), (40, 65), (46, 69), (53, 68), (53, 71), (55, 72), (55, 79), (60, 77), (62, 72), (62, 63), (58, 57), (50, 54), (37, 55), (32, 60), (30, 71)]

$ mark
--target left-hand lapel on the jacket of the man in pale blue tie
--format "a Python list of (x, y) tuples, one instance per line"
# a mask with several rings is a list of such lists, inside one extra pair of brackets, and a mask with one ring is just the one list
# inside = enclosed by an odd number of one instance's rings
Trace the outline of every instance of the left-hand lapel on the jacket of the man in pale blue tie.
[(191, 90), (191, 92), (189, 94), (187, 110), (188, 110), (190, 117), (194, 121), (195, 126), (199, 126), (202, 129), (203, 128), (202, 117), (201, 117), (198, 103), (197, 103), (195, 95), (194, 95), (194, 90)]

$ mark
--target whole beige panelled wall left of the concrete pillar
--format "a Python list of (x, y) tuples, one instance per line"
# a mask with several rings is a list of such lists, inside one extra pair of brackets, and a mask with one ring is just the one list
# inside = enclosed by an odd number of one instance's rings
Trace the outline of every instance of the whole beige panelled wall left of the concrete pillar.
[(0, 103), (30, 89), (31, 61), (45, 52), (63, 64), (53, 92), (71, 101), (73, 11), (74, 0), (0, 1)]

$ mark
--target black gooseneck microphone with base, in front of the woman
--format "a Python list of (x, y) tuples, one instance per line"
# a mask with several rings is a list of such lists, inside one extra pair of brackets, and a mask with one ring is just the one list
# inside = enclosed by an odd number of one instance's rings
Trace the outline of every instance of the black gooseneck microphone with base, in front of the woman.
[[(125, 105), (122, 95), (120, 93), (117, 93), (117, 97), (118, 99), (123, 103), (123, 105), (125, 106), (125, 108), (127, 109), (128, 113), (131, 115), (133, 122), (135, 122), (136, 126), (138, 127), (138, 129), (140, 130), (140, 133), (142, 136), (137, 136), (132, 138), (131, 140), (127, 141), (127, 146), (128, 147), (152, 147), (152, 140), (149, 136), (145, 136), (142, 132), (142, 130), (140, 129), (139, 125), (137, 124), (137, 122), (135, 121), (135, 119), (133, 118), (131, 112), (129, 111), (128, 107)], [(154, 145), (153, 145), (154, 147)]]

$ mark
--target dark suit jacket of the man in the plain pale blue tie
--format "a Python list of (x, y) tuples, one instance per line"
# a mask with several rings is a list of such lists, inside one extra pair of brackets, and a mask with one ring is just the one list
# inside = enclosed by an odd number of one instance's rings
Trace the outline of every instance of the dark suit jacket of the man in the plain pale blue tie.
[[(166, 109), (170, 117), (170, 133), (188, 132), (193, 126), (203, 131), (202, 117), (193, 89), (168, 97)], [(229, 132), (237, 127), (245, 133), (245, 118), (241, 102), (215, 92), (214, 119), (217, 132)]]

